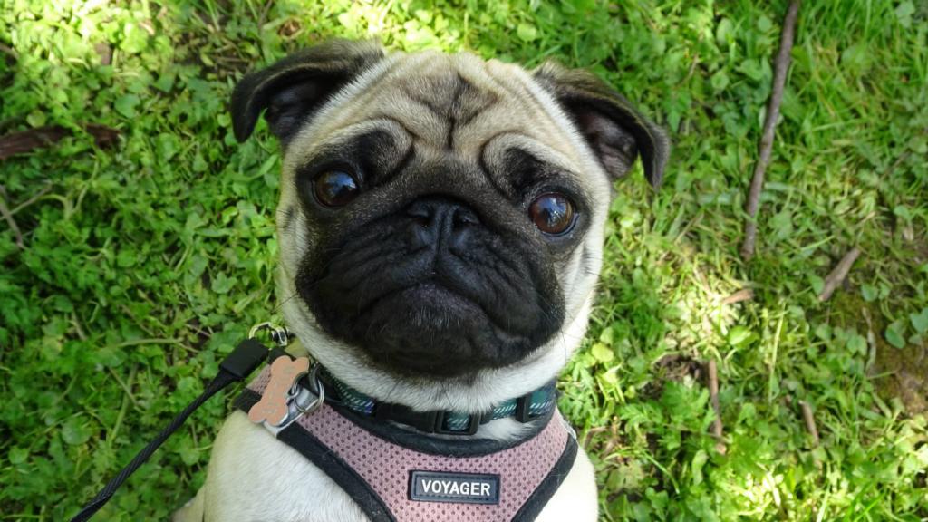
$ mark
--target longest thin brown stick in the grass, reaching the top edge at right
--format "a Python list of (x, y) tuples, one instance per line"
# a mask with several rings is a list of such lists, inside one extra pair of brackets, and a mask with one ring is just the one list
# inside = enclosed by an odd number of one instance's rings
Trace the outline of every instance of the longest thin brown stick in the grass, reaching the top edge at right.
[(754, 165), (754, 177), (751, 178), (751, 189), (748, 192), (748, 201), (744, 209), (748, 214), (748, 220), (744, 227), (744, 242), (741, 243), (741, 258), (745, 261), (750, 261), (754, 256), (760, 190), (764, 187), (764, 173), (767, 171), (767, 163), (770, 163), (770, 151), (773, 150), (773, 130), (777, 126), (777, 120), (780, 119), (780, 102), (783, 100), (786, 72), (790, 69), (790, 53), (793, 51), (793, 34), (798, 15), (799, 0), (793, 0), (786, 11), (786, 18), (783, 19), (780, 52), (777, 54), (773, 69), (773, 90), (770, 93), (770, 101), (767, 103), (767, 117), (764, 119), (764, 134), (760, 139), (760, 153), (757, 164)]

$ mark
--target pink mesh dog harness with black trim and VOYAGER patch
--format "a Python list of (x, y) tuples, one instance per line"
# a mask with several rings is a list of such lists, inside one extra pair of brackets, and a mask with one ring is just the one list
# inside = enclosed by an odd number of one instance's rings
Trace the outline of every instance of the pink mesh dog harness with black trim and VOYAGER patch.
[[(238, 407), (247, 411), (268, 380), (265, 367), (238, 398)], [(373, 522), (534, 520), (561, 486), (577, 450), (557, 410), (539, 421), (545, 425), (535, 435), (509, 446), (485, 439), (411, 442), (393, 437), (408, 436), (405, 430), (381, 424), (374, 433), (360, 425), (364, 421), (324, 404), (277, 438), (351, 494)], [(483, 450), (469, 449), (472, 443)]]

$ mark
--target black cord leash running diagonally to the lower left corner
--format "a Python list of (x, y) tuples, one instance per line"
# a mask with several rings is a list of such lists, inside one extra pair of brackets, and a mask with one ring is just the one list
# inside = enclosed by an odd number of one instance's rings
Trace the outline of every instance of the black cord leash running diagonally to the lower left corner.
[(149, 442), (145, 449), (139, 451), (132, 462), (122, 468), (119, 475), (113, 477), (103, 489), (100, 489), (100, 492), (97, 493), (94, 500), (88, 502), (80, 513), (71, 518), (71, 522), (85, 522), (89, 520), (100, 508), (106, 505), (107, 502), (110, 502), (110, 498), (112, 498), (116, 489), (119, 489), (122, 483), (125, 482), (129, 476), (132, 476), (139, 466), (148, 461), (148, 457), (161, 448), (161, 444), (163, 444), (168, 437), (171, 437), (174, 432), (177, 431), (177, 428), (187, 421), (187, 417), (194, 411), (197, 411), (204, 402), (209, 400), (209, 398), (213, 397), (227, 385), (243, 381), (245, 377), (248, 377), (251, 372), (254, 372), (254, 370), (261, 365), (264, 358), (267, 357), (267, 352), (268, 350), (264, 345), (251, 337), (239, 343), (238, 346), (232, 350), (232, 353), (219, 364), (219, 374), (213, 378), (213, 381), (211, 381), (209, 385), (206, 385), (206, 389), (203, 390), (200, 397), (194, 399), (193, 402), (187, 405), (184, 411), (181, 411), (180, 414), (174, 417), (171, 424), (168, 424), (167, 427), (161, 430), (158, 437), (155, 437), (154, 440)]

